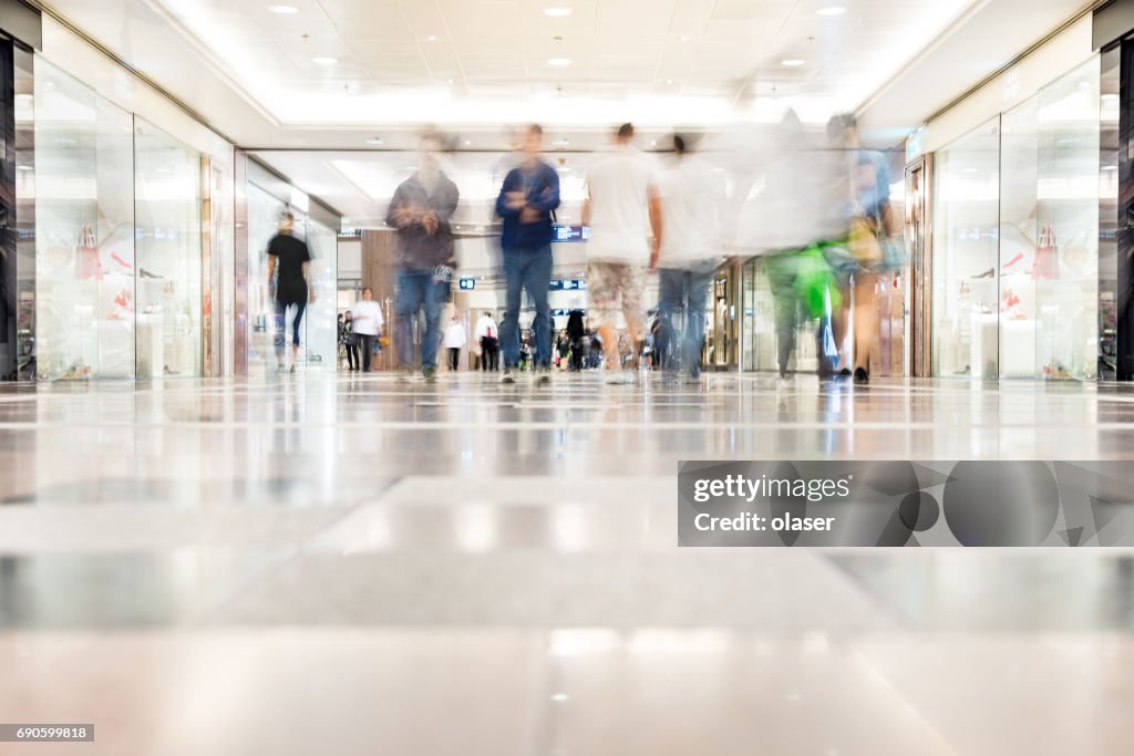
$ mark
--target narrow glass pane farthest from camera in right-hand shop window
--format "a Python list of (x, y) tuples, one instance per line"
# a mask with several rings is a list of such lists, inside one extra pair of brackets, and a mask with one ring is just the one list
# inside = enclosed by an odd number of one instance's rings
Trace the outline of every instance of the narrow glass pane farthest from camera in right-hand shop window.
[(999, 374), (1000, 118), (937, 153), (933, 374)]

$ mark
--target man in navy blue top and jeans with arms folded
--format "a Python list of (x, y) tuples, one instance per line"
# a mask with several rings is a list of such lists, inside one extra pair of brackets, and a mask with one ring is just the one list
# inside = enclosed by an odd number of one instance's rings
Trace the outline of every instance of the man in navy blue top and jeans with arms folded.
[(551, 287), (551, 228), (559, 206), (559, 175), (541, 159), (543, 129), (532, 124), (524, 129), (523, 160), (510, 171), (497, 197), (497, 214), (503, 219), (500, 246), (503, 249), (503, 274), (507, 284), (505, 316), (500, 322), (500, 346), (503, 352), (501, 383), (515, 383), (519, 364), (519, 306), (523, 289), (535, 303), (536, 383), (551, 383), (551, 309), (548, 289)]

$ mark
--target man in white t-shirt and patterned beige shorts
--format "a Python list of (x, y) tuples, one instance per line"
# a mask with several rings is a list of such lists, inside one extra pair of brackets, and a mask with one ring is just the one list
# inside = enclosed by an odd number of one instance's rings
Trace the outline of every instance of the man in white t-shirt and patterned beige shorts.
[(587, 172), (587, 198), (583, 206), (583, 224), (591, 227), (586, 244), (587, 315), (599, 324), (611, 383), (629, 379), (618, 357), (615, 318), (621, 311), (631, 340), (637, 347), (643, 337), (645, 274), (657, 270), (661, 244), (657, 169), (653, 160), (633, 143), (634, 126), (623, 124), (615, 136), (615, 153)]

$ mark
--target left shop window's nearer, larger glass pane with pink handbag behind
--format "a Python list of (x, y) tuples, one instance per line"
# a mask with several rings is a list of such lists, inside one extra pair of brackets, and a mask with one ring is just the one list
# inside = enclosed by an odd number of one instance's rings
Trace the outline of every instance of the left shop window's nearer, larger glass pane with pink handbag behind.
[(133, 119), (35, 65), (36, 374), (132, 377)]

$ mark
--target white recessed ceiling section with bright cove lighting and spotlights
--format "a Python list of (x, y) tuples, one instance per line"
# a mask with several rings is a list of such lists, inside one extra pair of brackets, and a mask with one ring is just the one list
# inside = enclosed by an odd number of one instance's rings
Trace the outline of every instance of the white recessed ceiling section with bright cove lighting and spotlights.
[[(981, 0), (975, 0), (980, 2)], [(272, 6), (287, 5), (293, 14)], [(175, 93), (187, 48), (296, 129), (538, 119), (725, 122), (746, 94), (811, 120), (854, 108), (974, 0), (53, 0)], [(826, 8), (841, 15), (820, 15)], [(569, 8), (550, 17), (548, 8)], [(171, 44), (167, 28), (181, 36)], [(186, 44), (188, 42), (188, 45)], [(316, 58), (333, 58), (320, 65)], [(564, 58), (567, 66), (549, 61)], [(804, 61), (797, 67), (784, 60)], [(203, 69), (203, 70), (202, 70)], [(180, 79), (180, 80), (178, 80)], [(192, 97), (187, 100), (196, 107)], [(202, 112), (213, 118), (208, 109)], [(222, 113), (215, 116), (223, 118)], [(239, 125), (225, 126), (239, 134)], [(286, 146), (289, 139), (252, 143)], [(319, 145), (323, 146), (323, 145)], [(340, 146), (327, 145), (327, 146)]]

